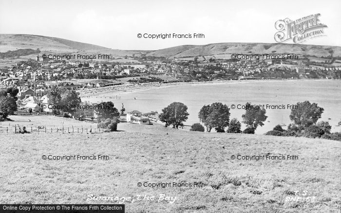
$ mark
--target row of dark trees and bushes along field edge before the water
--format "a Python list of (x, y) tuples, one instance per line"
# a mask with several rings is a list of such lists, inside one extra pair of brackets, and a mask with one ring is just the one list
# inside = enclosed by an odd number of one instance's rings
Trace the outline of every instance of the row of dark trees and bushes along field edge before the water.
[[(162, 109), (159, 115), (161, 122), (165, 126), (173, 128), (183, 127), (187, 121), (189, 113), (188, 107), (180, 102), (173, 102), (169, 106)], [(251, 103), (246, 103), (246, 112), (242, 115), (242, 123), (246, 124), (246, 129), (241, 130), (241, 122), (233, 118), (230, 120), (230, 108), (222, 103), (212, 103), (204, 105), (199, 113), (200, 123), (192, 124), (190, 131), (228, 133), (246, 133), (254, 134), (258, 126), (263, 126), (267, 116), (265, 109), (251, 107)], [(293, 136), (308, 138), (324, 138), (341, 141), (341, 133), (331, 133), (331, 125), (328, 122), (317, 121), (321, 118), (324, 109), (316, 103), (309, 101), (298, 102), (297, 107), (291, 109), (290, 120), (293, 122), (284, 130), (281, 125), (277, 125), (273, 130), (265, 133), (265, 135), (275, 136)], [(341, 122), (340, 122), (341, 123)]]

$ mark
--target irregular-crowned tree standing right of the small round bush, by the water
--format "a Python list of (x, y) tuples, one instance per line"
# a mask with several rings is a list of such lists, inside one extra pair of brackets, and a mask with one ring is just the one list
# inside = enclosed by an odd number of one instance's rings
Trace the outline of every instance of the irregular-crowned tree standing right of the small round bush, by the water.
[[(252, 127), (254, 130), (257, 129), (257, 126), (263, 126), (267, 118), (265, 115), (265, 109), (260, 109), (254, 106), (251, 106), (251, 103), (246, 103), (246, 112), (242, 115), (243, 123), (247, 125), (247, 127)], [(254, 131), (253, 130), (253, 131)], [(251, 131), (248, 129), (247, 131)]]

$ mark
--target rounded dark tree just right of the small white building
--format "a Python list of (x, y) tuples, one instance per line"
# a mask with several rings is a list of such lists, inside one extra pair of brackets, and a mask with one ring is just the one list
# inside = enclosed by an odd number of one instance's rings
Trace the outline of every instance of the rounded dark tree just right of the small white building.
[(165, 126), (173, 125), (173, 128), (184, 126), (183, 122), (187, 121), (189, 113), (187, 106), (180, 102), (173, 102), (169, 106), (162, 109), (159, 115), (161, 122), (166, 123)]

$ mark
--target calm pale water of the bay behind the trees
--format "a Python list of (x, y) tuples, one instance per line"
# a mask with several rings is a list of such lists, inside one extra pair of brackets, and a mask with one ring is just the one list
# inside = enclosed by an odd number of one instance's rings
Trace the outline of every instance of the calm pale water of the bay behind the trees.
[[(107, 96), (107, 95), (106, 95)], [(117, 94), (113, 94), (113, 97)], [(186, 125), (199, 123), (198, 113), (202, 106), (221, 102), (230, 108), (230, 119), (243, 121), (246, 102), (261, 106), (266, 110), (267, 119), (263, 126), (258, 126), (256, 134), (264, 134), (277, 124), (292, 123), (290, 107), (298, 102), (317, 103), (324, 109), (319, 121), (328, 121), (332, 132), (340, 132), (341, 126), (341, 80), (247, 80), (224, 81), (170, 86), (160, 89), (146, 89), (137, 92), (122, 93), (119, 98), (101, 101), (112, 101), (120, 109), (122, 103), (126, 112), (138, 110), (143, 113), (157, 111), (172, 102), (181, 102), (188, 106), (189, 118)], [(111, 97), (109, 92), (107, 97)], [(242, 124), (242, 130), (246, 127)], [(214, 131), (214, 130), (212, 130)]]

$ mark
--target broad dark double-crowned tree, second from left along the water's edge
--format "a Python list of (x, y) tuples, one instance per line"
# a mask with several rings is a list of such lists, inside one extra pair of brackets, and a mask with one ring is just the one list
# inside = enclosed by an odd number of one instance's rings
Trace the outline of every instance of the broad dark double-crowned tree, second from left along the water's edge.
[(199, 111), (200, 122), (203, 122), (208, 132), (215, 127), (217, 132), (225, 132), (229, 122), (229, 108), (222, 103), (204, 105)]

